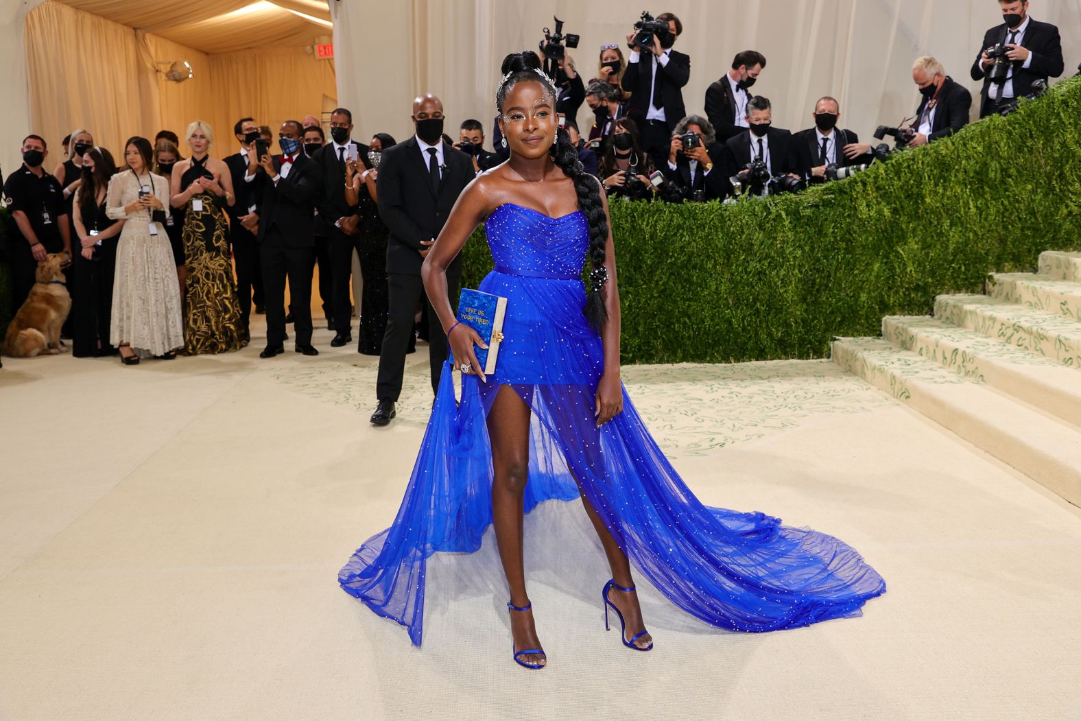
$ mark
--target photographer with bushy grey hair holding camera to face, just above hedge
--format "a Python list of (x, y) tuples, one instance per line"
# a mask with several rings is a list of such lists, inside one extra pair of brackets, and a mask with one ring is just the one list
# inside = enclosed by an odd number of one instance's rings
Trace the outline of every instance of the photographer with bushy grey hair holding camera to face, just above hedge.
[(717, 142), (713, 124), (700, 116), (688, 116), (672, 132), (662, 172), (688, 199), (716, 200), (726, 190), (722, 169), (713, 169), (723, 157), (724, 146)]

